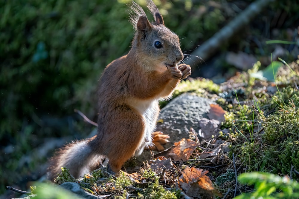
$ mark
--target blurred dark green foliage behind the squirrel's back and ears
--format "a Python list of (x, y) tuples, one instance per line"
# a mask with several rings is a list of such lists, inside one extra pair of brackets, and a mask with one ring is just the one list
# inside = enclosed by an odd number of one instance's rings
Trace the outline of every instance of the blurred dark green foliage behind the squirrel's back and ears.
[[(33, 115), (62, 117), (74, 108), (96, 115), (97, 79), (107, 64), (128, 52), (133, 37), (126, 3), (0, 2), (0, 140), (13, 138)], [(216, 32), (224, 19), (219, 9), (208, 12), (191, 1), (155, 3), (188, 49), (195, 48), (194, 38), (202, 38), (205, 30), (210, 30), (206, 37)]]

